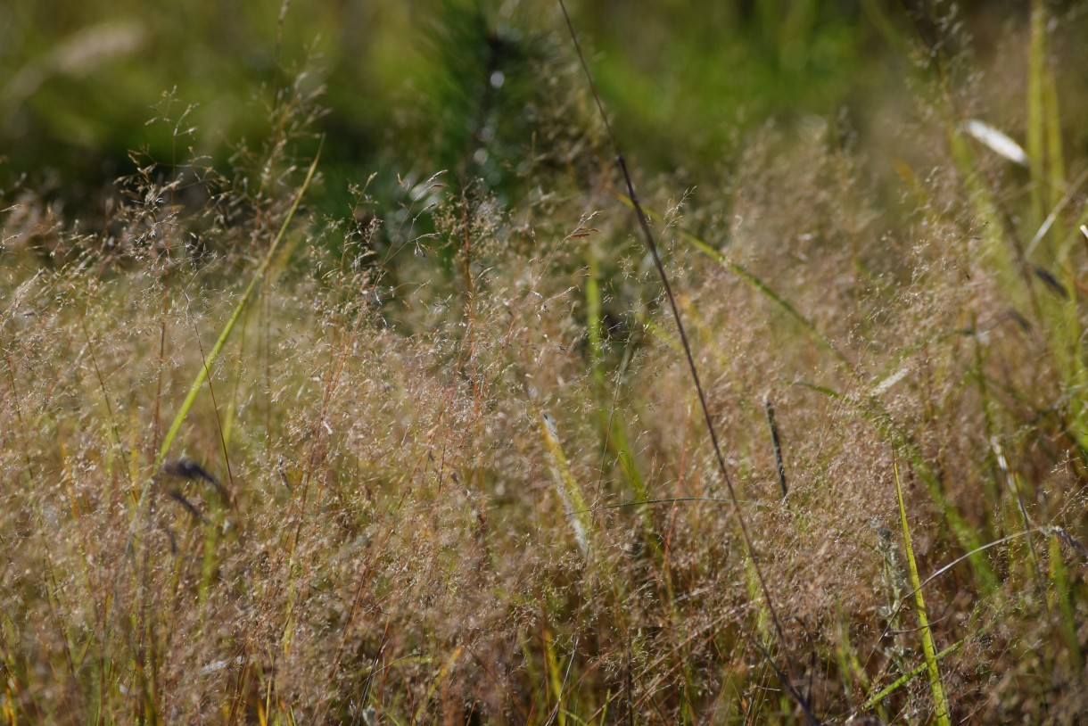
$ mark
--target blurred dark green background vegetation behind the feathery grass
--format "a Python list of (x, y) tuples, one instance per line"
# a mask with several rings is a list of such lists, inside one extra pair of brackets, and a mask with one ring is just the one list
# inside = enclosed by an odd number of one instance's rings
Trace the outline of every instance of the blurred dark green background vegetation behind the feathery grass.
[[(911, 48), (951, 12), (890, 0), (569, 5), (629, 156), (643, 174), (691, 183), (767, 123), (831, 119), (879, 135), (877, 109), (901, 102), (917, 73)], [(1052, 13), (1083, 24), (1079, 7)], [(1029, 3), (955, 9), (985, 54), (1003, 28), (1026, 27)], [(445, 169), (511, 192), (542, 169), (578, 175), (603, 148), (557, 2), (17, 0), (0, 4), (0, 187), (8, 202), (33, 188), (77, 213), (133, 171), (131, 150), (226, 168), (270, 137), (270, 108), (292, 84), (324, 88), (312, 131), (325, 139), (320, 204), (334, 208), (371, 172)]]

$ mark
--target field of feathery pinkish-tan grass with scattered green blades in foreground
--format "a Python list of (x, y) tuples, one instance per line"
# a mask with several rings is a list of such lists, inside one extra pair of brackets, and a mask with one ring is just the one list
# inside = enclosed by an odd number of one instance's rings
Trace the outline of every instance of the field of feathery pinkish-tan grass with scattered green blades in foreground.
[(1000, 88), (937, 19), (900, 182), (830, 122), (644, 182), (671, 300), (573, 111), (517, 194), (314, 213), (298, 82), (228, 173), (141, 164), (98, 226), (5, 201), (3, 719), (1075, 723), (1088, 160), (1049, 12)]

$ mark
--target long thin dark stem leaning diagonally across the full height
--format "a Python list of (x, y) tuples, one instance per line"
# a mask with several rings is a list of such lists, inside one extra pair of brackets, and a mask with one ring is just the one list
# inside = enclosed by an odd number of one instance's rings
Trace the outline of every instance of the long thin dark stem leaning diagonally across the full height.
[(590, 72), (589, 63), (585, 61), (585, 56), (582, 53), (582, 46), (578, 41), (578, 33), (574, 30), (573, 21), (570, 20), (570, 13), (567, 12), (567, 4), (564, 0), (559, 0), (559, 7), (562, 9), (562, 15), (567, 20), (567, 28), (570, 30), (570, 38), (574, 44), (574, 49), (578, 51), (578, 60), (582, 64), (582, 71), (585, 73), (585, 78), (590, 84), (590, 90), (593, 94), (593, 100), (597, 104), (597, 111), (601, 113), (601, 119), (605, 123), (605, 131), (608, 134), (608, 140), (611, 143), (613, 150), (616, 155), (616, 163), (619, 164), (620, 171), (623, 174), (623, 181), (627, 184), (628, 197), (631, 199), (631, 206), (634, 208), (635, 217), (639, 220), (639, 226), (642, 229), (642, 236), (646, 241), (646, 247), (650, 249), (650, 255), (654, 259), (654, 267), (657, 268), (657, 274), (662, 280), (662, 287), (665, 291), (665, 297), (669, 302), (669, 308), (672, 311), (672, 319), (677, 325), (677, 332), (680, 334), (680, 342), (683, 344), (684, 357), (688, 359), (688, 368), (691, 372), (691, 380), (695, 386), (695, 392), (698, 394), (698, 405), (703, 410), (703, 418), (706, 420), (706, 429), (710, 434), (710, 443), (714, 446), (714, 456), (718, 463), (718, 471), (721, 473), (721, 479), (726, 482), (726, 488), (729, 490), (729, 499), (733, 504), (733, 512), (737, 515), (737, 522), (740, 526), (741, 534), (744, 538), (744, 545), (747, 549), (749, 556), (752, 559), (752, 568), (755, 570), (756, 578), (759, 580), (759, 589), (763, 591), (764, 600), (767, 603), (767, 611), (770, 614), (770, 619), (775, 624), (775, 632), (778, 636), (778, 640), (782, 647), (782, 654), (786, 656), (787, 673), (782, 673), (770, 659), (770, 654), (761, 645), (759, 652), (763, 654), (764, 659), (774, 668), (775, 674), (781, 681), (782, 687), (786, 691), (798, 702), (802, 711), (805, 714), (805, 721), (809, 724), (819, 723), (815, 715), (813, 715), (811, 709), (808, 707), (807, 699), (805, 699), (796, 689), (793, 688), (791, 681), (791, 676), (794, 670), (792, 660), (789, 655), (789, 648), (786, 641), (786, 633), (782, 631), (782, 624), (778, 617), (778, 613), (775, 610), (774, 599), (770, 596), (770, 588), (767, 587), (767, 580), (763, 575), (763, 568), (759, 566), (759, 559), (756, 554), (755, 543), (752, 541), (752, 536), (749, 532), (747, 522), (744, 520), (744, 516), (741, 514), (740, 502), (737, 497), (737, 491), (733, 488), (732, 478), (729, 476), (729, 469), (726, 467), (725, 456), (721, 454), (721, 445), (718, 442), (718, 433), (714, 428), (714, 418), (710, 416), (710, 408), (706, 403), (706, 394), (703, 391), (703, 384), (698, 378), (698, 368), (695, 365), (695, 356), (691, 352), (691, 344), (688, 341), (688, 333), (684, 330), (683, 321), (680, 318), (680, 309), (677, 307), (676, 298), (672, 295), (672, 287), (669, 285), (668, 275), (665, 272), (665, 266), (662, 263), (662, 257), (657, 251), (657, 243), (654, 241), (654, 233), (650, 229), (650, 222), (646, 220), (646, 213), (642, 209), (642, 205), (639, 202), (639, 195), (634, 190), (634, 182), (631, 180), (631, 174), (627, 169), (627, 162), (623, 160), (623, 155), (620, 152), (619, 143), (616, 140), (616, 135), (613, 133), (611, 124), (608, 123), (608, 114), (605, 113), (604, 103), (601, 101), (601, 95), (597, 93), (596, 84), (593, 82), (593, 74)]

